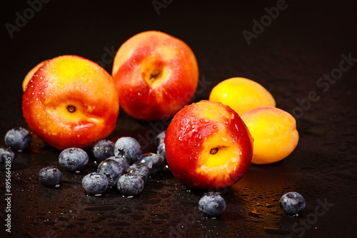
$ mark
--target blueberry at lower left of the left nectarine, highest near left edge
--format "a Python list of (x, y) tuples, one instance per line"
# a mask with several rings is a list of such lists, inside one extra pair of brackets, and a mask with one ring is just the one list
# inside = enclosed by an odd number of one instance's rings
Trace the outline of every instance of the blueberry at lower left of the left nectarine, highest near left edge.
[(5, 144), (12, 150), (24, 150), (31, 145), (32, 135), (29, 130), (16, 127), (9, 130), (5, 135)]

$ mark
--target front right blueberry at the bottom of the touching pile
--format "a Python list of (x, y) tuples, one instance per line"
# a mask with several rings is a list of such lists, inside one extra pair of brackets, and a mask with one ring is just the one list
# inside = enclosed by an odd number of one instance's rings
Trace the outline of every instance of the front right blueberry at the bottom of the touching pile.
[(129, 173), (124, 174), (118, 180), (118, 189), (122, 195), (136, 196), (144, 190), (144, 180), (141, 175)]

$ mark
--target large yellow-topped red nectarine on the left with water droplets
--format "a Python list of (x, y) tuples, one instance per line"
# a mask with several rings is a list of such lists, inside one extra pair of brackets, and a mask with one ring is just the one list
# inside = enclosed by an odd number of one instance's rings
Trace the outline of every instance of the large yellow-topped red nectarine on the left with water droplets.
[(44, 61), (22, 96), (34, 135), (64, 150), (87, 148), (109, 136), (119, 114), (118, 93), (104, 68), (80, 56)]

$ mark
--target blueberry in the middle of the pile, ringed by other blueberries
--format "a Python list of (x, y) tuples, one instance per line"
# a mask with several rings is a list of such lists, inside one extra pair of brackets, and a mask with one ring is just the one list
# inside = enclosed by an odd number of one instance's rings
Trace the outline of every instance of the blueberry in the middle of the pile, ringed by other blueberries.
[(109, 186), (115, 186), (118, 183), (119, 177), (124, 174), (124, 168), (116, 160), (106, 159), (98, 165), (96, 172), (106, 175)]

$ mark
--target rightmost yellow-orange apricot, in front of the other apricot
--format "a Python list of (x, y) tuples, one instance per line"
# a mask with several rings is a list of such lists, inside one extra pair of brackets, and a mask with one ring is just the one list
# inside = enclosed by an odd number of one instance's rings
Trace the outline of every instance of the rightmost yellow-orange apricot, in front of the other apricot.
[(241, 118), (254, 138), (253, 164), (264, 165), (283, 160), (298, 145), (296, 120), (284, 110), (259, 107)]

